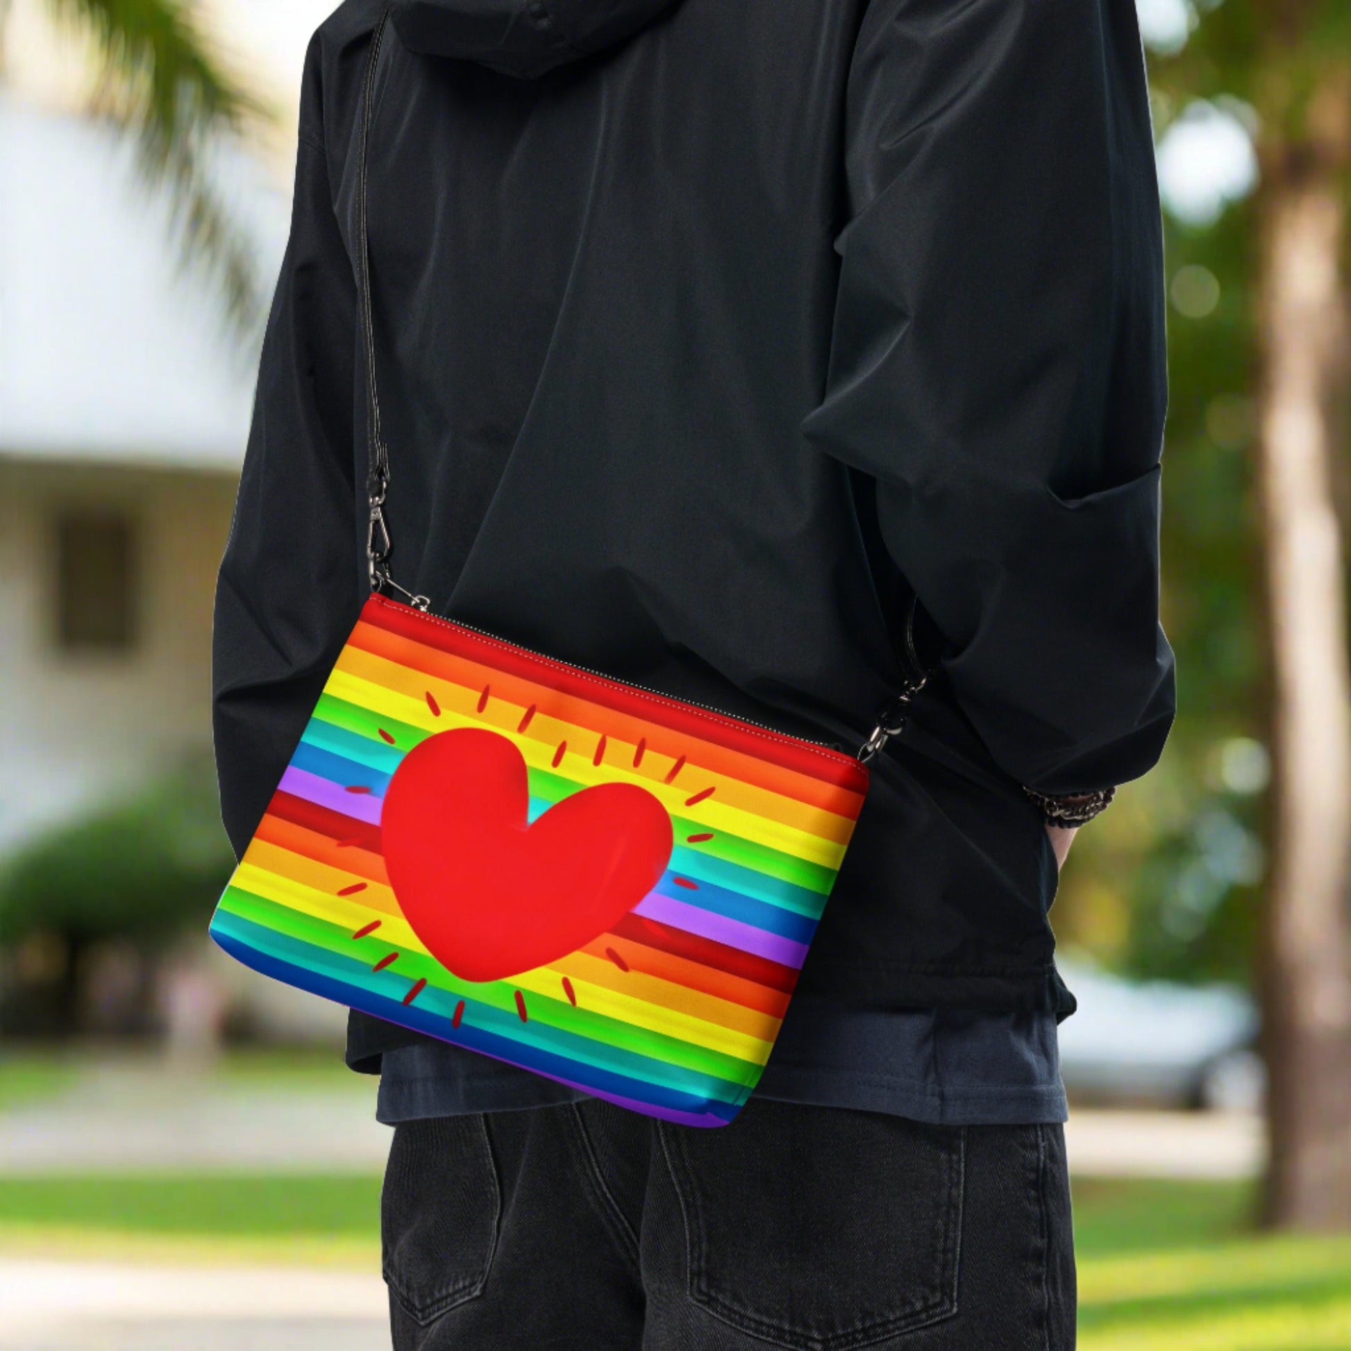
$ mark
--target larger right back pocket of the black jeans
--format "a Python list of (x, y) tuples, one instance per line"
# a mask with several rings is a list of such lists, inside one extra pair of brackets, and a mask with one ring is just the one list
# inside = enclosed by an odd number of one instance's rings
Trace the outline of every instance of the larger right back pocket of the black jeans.
[(957, 1313), (965, 1131), (751, 1101), (663, 1124), (689, 1296), (792, 1351), (852, 1351)]

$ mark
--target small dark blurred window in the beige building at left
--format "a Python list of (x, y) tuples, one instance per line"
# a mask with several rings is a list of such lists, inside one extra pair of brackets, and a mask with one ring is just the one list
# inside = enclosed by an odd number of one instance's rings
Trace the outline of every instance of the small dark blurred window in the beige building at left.
[(136, 639), (136, 540), (116, 512), (57, 521), (57, 639), (70, 651), (124, 651)]

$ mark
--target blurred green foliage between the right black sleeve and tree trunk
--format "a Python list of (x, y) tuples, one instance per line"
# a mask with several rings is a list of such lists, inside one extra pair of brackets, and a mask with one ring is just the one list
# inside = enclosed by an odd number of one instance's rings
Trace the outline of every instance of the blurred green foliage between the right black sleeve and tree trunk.
[(1054, 916), (1062, 947), (1123, 974), (1247, 986), (1270, 780), (1255, 489), (1256, 9), (1140, 4), (1165, 200), (1163, 619), (1178, 719), (1159, 767), (1075, 842)]

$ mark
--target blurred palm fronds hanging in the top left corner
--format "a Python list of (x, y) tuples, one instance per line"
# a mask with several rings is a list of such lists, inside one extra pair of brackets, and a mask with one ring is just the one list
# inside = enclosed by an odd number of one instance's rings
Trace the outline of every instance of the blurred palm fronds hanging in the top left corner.
[[(226, 69), (190, 0), (45, 0), (89, 41), (91, 111), (136, 146), (147, 184), (165, 186), (184, 261), (219, 286), (236, 335), (255, 330), (262, 292), (253, 250), (211, 172), (212, 150), (255, 130), (263, 105)], [(0, 0), (0, 23), (7, 0)]]

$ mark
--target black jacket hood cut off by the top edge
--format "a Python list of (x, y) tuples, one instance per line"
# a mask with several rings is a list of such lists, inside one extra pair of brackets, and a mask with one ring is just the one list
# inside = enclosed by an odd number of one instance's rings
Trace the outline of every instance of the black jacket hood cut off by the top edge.
[(394, 0), (404, 46), (458, 57), (521, 80), (603, 51), (676, 0)]

